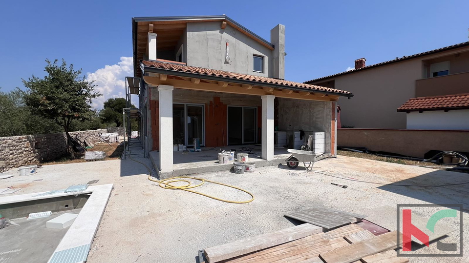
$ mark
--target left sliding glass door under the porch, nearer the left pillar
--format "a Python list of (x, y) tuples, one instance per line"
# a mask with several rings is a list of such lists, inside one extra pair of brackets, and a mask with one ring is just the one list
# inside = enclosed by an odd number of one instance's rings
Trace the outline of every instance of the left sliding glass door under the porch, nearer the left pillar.
[(174, 103), (172, 106), (173, 143), (193, 146), (194, 139), (204, 145), (204, 106)]

